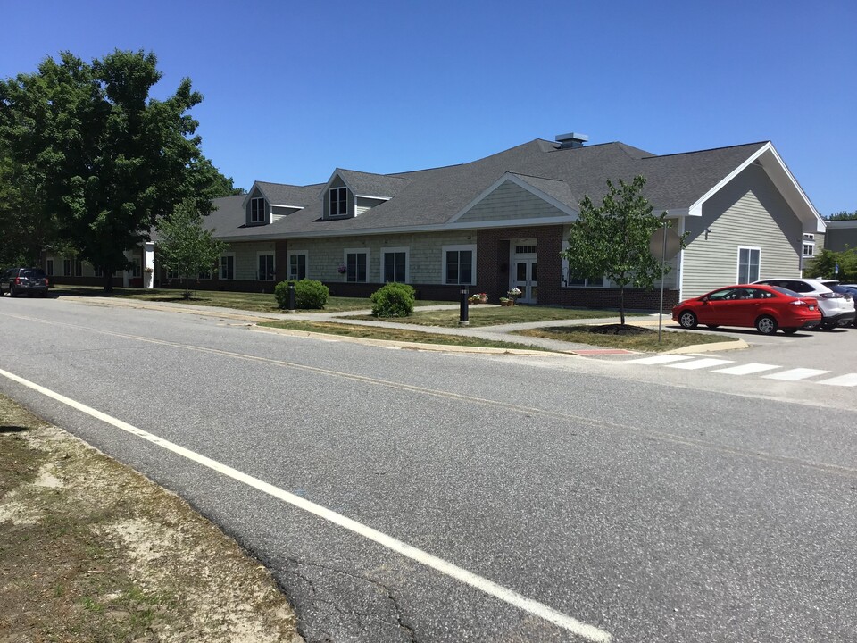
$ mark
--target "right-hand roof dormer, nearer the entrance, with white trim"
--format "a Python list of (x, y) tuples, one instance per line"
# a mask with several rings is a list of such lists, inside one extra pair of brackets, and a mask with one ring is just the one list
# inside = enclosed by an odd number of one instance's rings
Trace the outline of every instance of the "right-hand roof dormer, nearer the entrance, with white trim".
[(337, 168), (324, 188), (322, 218), (351, 219), (376, 205), (387, 203), (411, 181), (384, 174), (370, 174)]

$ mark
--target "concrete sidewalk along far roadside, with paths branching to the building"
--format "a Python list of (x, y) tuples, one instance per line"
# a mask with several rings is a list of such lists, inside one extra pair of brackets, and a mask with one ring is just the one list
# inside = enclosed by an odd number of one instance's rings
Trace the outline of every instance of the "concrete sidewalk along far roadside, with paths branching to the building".
[[(624, 349), (616, 349), (610, 347), (599, 347), (592, 344), (578, 344), (574, 342), (565, 342), (558, 339), (550, 339), (550, 338), (536, 338), (536, 337), (526, 337), (522, 335), (515, 335), (514, 333), (519, 330), (528, 330), (528, 329), (537, 329), (537, 328), (549, 328), (551, 326), (568, 326), (570, 323), (587, 323), (587, 324), (608, 324), (608, 323), (619, 323), (620, 319), (617, 315), (616, 317), (607, 317), (603, 319), (585, 319), (585, 320), (551, 320), (551, 321), (528, 321), (523, 323), (514, 323), (514, 324), (503, 324), (499, 326), (488, 326), (488, 327), (470, 327), (470, 326), (457, 326), (457, 327), (440, 327), (440, 326), (420, 326), (418, 324), (411, 323), (402, 323), (397, 321), (380, 321), (380, 320), (354, 320), (347, 319), (348, 317), (353, 317), (355, 315), (369, 315), (371, 314), (370, 310), (356, 310), (356, 311), (345, 311), (341, 313), (259, 313), (255, 311), (245, 311), (239, 310), (236, 308), (219, 308), (214, 306), (203, 306), (203, 305), (193, 305), (193, 304), (183, 304), (183, 303), (173, 303), (173, 302), (146, 302), (139, 301), (136, 299), (122, 299), (121, 297), (104, 297), (104, 298), (89, 298), (89, 297), (63, 297), (69, 299), (77, 299), (80, 301), (86, 301), (87, 303), (93, 305), (121, 305), (129, 308), (139, 308), (146, 310), (163, 310), (163, 311), (172, 311), (177, 313), (193, 313), (204, 315), (208, 317), (220, 317), (226, 319), (232, 319), (235, 321), (246, 321), (248, 323), (257, 323), (260, 321), (272, 321), (272, 320), (281, 320), (281, 321), (327, 321), (331, 323), (346, 323), (352, 326), (376, 326), (382, 328), (392, 328), (392, 329), (401, 329), (401, 330), (411, 330), (413, 332), (423, 332), (423, 333), (431, 333), (434, 335), (450, 335), (450, 336), (458, 336), (458, 337), (471, 337), (471, 338), (481, 338), (486, 339), (488, 341), (496, 341), (496, 342), (505, 342), (505, 343), (515, 343), (519, 345), (527, 345), (531, 347), (538, 347), (542, 349), (541, 351), (527, 351), (527, 350), (507, 350), (503, 348), (478, 348), (478, 347), (454, 347), (450, 345), (435, 345), (435, 349), (437, 350), (459, 350), (466, 352), (488, 352), (488, 353), (522, 353), (522, 354), (535, 354), (535, 355), (544, 355), (544, 351), (552, 351), (555, 353), (562, 354), (570, 354), (570, 355), (604, 355), (604, 354), (621, 354), (621, 353), (633, 353), (635, 351), (626, 351)], [(437, 310), (449, 310), (449, 311), (458, 311), (458, 304), (450, 304), (450, 305), (431, 305), (431, 306), (416, 306), (414, 308), (415, 312), (419, 311), (437, 311)], [(480, 304), (480, 308), (487, 307), (495, 307), (499, 308), (498, 305), (491, 304)], [(657, 328), (658, 326), (658, 315), (648, 314), (641, 317), (626, 317), (625, 320), (627, 323), (631, 323), (635, 326), (649, 326)], [(668, 315), (664, 315), (663, 318), (663, 330), (664, 332), (675, 332), (675, 326), (673, 321), (670, 319)], [(668, 325), (672, 325), (673, 328), (667, 328)], [(263, 329), (260, 330), (270, 330), (274, 332), (280, 332), (283, 334), (289, 335), (324, 335), (324, 333), (312, 333), (308, 331), (298, 331), (298, 330), (274, 330), (274, 329)], [(686, 331), (681, 331), (686, 332)], [(362, 341), (364, 343), (383, 343), (383, 344), (395, 344), (400, 346), (408, 346), (414, 345), (418, 342), (390, 342), (388, 340), (368, 340), (365, 338), (347, 338), (343, 335), (335, 335), (329, 334), (327, 335), (329, 338), (337, 338), (341, 341)], [(420, 345), (420, 347), (426, 347), (427, 345)], [(724, 342), (718, 342), (714, 344), (698, 344), (690, 347), (678, 348), (672, 351), (667, 351), (670, 353), (702, 353), (702, 352), (710, 352), (710, 351), (719, 351), (719, 350), (732, 350), (736, 348), (746, 348), (746, 343), (739, 340), (729, 340)]]

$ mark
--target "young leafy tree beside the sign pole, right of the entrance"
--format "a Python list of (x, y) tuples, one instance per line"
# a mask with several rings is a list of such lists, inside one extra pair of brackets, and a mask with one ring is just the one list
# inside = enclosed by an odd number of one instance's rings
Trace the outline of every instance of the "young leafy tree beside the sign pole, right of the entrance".
[[(608, 192), (599, 206), (584, 196), (578, 221), (570, 226), (569, 247), (562, 253), (570, 274), (587, 279), (606, 277), (619, 286), (622, 326), (625, 287), (652, 288), (654, 280), (662, 277), (661, 262), (652, 255), (649, 242), (654, 230), (664, 225), (667, 214), (652, 213), (653, 205), (641, 194), (644, 186), (642, 176), (631, 183), (620, 179), (618, 188), (608, 180)], [(669, 271), (667, 266), (664, 274)]]

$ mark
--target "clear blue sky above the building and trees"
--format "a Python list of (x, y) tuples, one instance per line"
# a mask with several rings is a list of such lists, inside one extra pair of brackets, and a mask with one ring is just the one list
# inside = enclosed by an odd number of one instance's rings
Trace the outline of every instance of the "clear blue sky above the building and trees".
[(857, 210), (857, 3), (0, 0), (0, 77), (153, 51), (236, 185), (472, 161), (564, 132), (654, 154), (771, 140)]

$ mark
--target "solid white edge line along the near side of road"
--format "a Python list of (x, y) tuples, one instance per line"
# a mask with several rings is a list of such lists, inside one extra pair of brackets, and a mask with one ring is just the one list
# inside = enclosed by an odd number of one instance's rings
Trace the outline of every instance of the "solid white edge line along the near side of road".
[(0, 370), (0, 375), (3, 375), (12, 381), (16, 381), (25, 387), (31, 388), (46, 397), (56, 400), (57, 402), (71, 406), (71, 408), (77, 409), (82, 413), (87, 413), (87, 415), (96, 418), (96, 420), (100, 420), (101, 422), (110, 424), (117, 429), (126, 431), (131, 435), (137, 436), (137, 438), (145, 439), (158, 447), (162, 447), (175, 454), (181, 455), (192, 462), (208, 467), (209, 469), (212, 469), (212, 471), (221, 473), (233, 480), (238, 480), (248, 487), (258, 489), (263, 493), (266, 493), (271, 497), (276, 497), (289, 505), (293, 505), (310, 514), (319, 516), (320, 518), (332, 522), (346, 530), (353, 531), (355, 534), (362, 536), (362, 538), (372, 540), (382, 547), (387, 547), (387, 549), (395, 551), (395, 553), (399, 555), (404, 555), (406, 558), (410, 558), (417, 563), (429, 567), (430, 569), (441, 572), (466, 585), (470, 585), (470, 587), (478, 589), (486, 593), (488, 596), (498, 598), (509, 605), (518, 607), (524, 612), (533, 614), (547, 622), (552, 622), (554, 625), (562, 628), (563, 630), (568, 630), (572, 634), (576, 634), (577, 636), (590, 641), (595, 641), (596, 643), (608, 643), (612, 638), (609, 632), (601, 630), (595, 627), (595, 625), (580, 622), (567, 614), (562, 614), (562, 612), (554, 610), (553, 607), (549, 607), (548, 605), (544, 605), (543, 603), (539, 603), (531, 598), (525, 597), (513, 589), (504, 588), (493, 580), (488, 580), (478, 574), (468, 572), (462, 567), (448, 563), (442, 558), (438, 558), (436, 555), (429, 554), (417, 547), (412, 547), (402, 540), (395, 539), (392, 536), (387, 536), (387, 534), (374, 530), (361, 522), (356, 522), (351, 518), (342, 514), (337, 514), (321, 505), (316, 505), (309, 500), (304, 500), (302, 497), (295, 496), (294, 494), (284, 491), (283, 489), (279, 489), (278, 487), (274, 487), (273, 485), (247, 475), (246, 473), (239, 472), (237, 469), (233, 469), (226, 464), (219, 463), (216, 460), (212, 460), (211, 458), (198, 454), (195, 451), (191, 451), (190, 449), (181, 447), (173, 442), (159, 438), (153, 433), (137, 429), (137, 427), (127, 422), (122, 422), (121, 420), (117, 420), (106, 413), (97, 411), (90, 406), (83, 405), (71, 399), (71, 397), (65, 397), (59, 393), (55, 393), (49, 388), (44, 388), (34, 382), (24, 380), (11, 372)]

